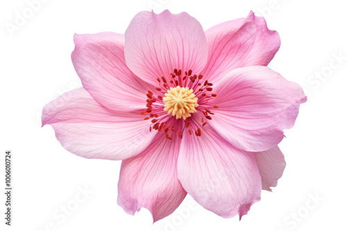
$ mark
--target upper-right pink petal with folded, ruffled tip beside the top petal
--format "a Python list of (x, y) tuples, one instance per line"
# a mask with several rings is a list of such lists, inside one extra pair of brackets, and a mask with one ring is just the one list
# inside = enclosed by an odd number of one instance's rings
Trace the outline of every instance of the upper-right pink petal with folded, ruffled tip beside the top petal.
[(246, 19), (226, 21), (206, 30), (209, 57), (203, 75), (218, 82), (235, 68), (267, 66), (280, 48), (280, 37), (263, 17), (251, 12)]

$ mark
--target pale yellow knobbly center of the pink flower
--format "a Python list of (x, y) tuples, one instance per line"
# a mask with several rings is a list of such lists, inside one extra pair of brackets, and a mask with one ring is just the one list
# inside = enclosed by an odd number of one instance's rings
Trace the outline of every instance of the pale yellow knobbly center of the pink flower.
[(176, 115), (176, 119), (187, 119), (191, 116), (190, 113), (196, 112), (195, 108), (198, 107), (198, 98), (195, 97), (193, 90), (187, 87), (171, 87), (162, 100), (165, 102), (164, 111), (172, 116)]

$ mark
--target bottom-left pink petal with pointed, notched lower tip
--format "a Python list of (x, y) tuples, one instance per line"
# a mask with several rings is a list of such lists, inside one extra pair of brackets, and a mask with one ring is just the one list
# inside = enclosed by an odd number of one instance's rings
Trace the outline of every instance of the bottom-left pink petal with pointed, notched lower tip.
[(180, 139), (167, 140), (158, 133), (141, 154), (123, 160), (118, 183), (118, 204), (128, 214), (141, 207), (153, 215), (153, 222), (169, 216), (187, 192), (177, 178)]

